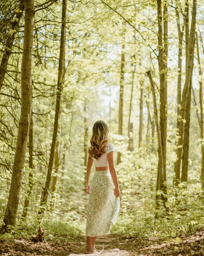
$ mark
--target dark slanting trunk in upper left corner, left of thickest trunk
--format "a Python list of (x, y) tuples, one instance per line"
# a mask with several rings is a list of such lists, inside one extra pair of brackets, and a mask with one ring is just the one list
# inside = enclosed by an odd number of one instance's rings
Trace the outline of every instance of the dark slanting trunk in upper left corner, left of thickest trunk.
[[(24, 8), (25, 8), (24, 1), (25, 0), (20, 1), (19, 10), (21, 12), (17, 13), (16, 17), (15, 17), (16, 18), (15, 21), (11, 22), (11, 29), (13, 29), (13, 30), (15, 29), (16, 31), (19, 28), (19, 22), (20, 22), (20, 19), (23, 16), (23, 11), (24, 11)], [(5, 42), (5, 50), (3, 52), (2, 59), (1, 59), (1, 64), (0, 64), (0, 91), (1, 91), (1, 87), (2, 87), (3, 82), (4, 82), (4, 77), (5, 77), (6, 70), (7, 70), (7, 64), (8, 64), (10, 55), (11, 55), (11, 50), (12, 50), (12, 46), (13, 46), (13, 43), (14, 43), (14, 40), (15, 40), (15, 35), (16, 35), (15, 33), (13, 33), (12, 35), (9, 35), (6, 42)]]

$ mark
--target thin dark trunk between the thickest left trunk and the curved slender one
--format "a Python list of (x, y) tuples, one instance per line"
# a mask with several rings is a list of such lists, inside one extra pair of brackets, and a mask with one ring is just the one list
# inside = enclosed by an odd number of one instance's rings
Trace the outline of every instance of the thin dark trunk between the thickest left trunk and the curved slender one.
[(26, 198), (24, 201), (24, 209), (22, 213), (22, 219), (25, 220), (27, 217), (29, 202), (30, 202), (30, 196), (32, 193), (32, 186), (33, 186), (33, 122), (32, 122), (32, 112), (31, 112), (31, 118), (30, 118), (30, 129), (29, 129), (29, 183), (28, 183), (28, 190), (26, 194)]

